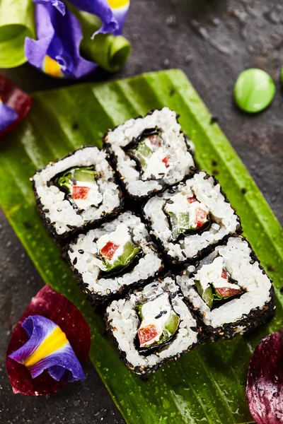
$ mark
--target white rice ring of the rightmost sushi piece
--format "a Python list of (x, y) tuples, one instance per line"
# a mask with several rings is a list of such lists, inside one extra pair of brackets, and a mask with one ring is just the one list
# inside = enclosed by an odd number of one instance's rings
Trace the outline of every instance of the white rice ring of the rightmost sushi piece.
[[(208, 305), (202, 300), (195, 288), (195, 277), (190, 278), (190, 271), (183, 276), (177, 277), (183, 295), (188, 298), (194, 307), (200, 309), (204, 324), (216, 329), (223, 324), (229, 324), (248, 316), (255, 308), (260, 308), (270, 301), (271, 282), (259, 267), (258, 261), (250, 263), (251, 249), (248, 242), (242, 237), (230, 237), (227, 245), (216, 247), (212, 254), (209, 254), (195, 269), (196, 277), (203, 274), (206, 266), (211, 267), (218, 254), (224, 259), (224, 266), (230, 273), (231, 278), (238, 282), (238, 285), (245, 290), (240, 298), (227, 300), (224, 305), (210, 310)], [(241, 326), (235, 333), (246, 331), (247, 326)]]

